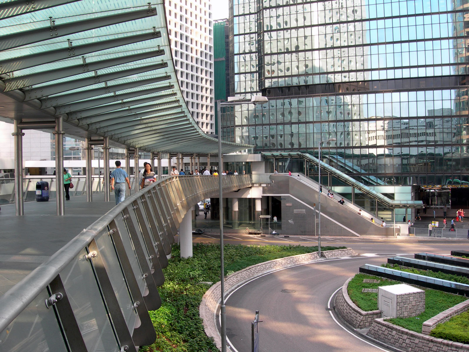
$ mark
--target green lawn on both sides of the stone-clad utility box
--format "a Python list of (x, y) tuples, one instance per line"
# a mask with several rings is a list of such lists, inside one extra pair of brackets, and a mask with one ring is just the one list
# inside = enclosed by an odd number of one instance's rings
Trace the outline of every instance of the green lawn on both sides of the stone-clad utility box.
[[(363, 279), (380, 280), (379, 283), (363, 283)], [(371, 311), (378, 309), (378, 293), (377, 292), (362, 292), (362, 289), (377, 289), (379, 286), (393, 285), (401, 283), (399, 281), (388, 280), (382, 277), (356, 274), (348, 283), (348, 296), (350, 299), (364, 311)], [(415, 317), (408, 318), (391, 318), (386, 319), (395, 325), (403, 328), (422, 332), (422, 324), (424, 321), (431, 317), (443, 312), (444, 310), (461, 303), (466, 300), (464, 296), (454, 295), (438, 290), (425, 289), (425, 311)]]

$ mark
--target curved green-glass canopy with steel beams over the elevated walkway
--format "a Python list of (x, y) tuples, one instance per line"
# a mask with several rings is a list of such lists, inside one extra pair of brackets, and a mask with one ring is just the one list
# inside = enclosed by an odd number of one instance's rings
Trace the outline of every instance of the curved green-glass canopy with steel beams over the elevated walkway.
[(182, 96), (162, 2), (3, 2), (0, 36), (0, 117), (63, 116), (68, 134), (147, 152), (217, 152)]

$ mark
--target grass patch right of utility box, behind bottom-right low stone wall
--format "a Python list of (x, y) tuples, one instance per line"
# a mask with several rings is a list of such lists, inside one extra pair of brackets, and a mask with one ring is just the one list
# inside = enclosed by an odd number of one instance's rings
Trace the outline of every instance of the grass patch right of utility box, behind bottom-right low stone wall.
[(444, 310), (465, 301), (464, 296), (454, 295), (437, 290), (425, 290), (425, 311), (415, 317), (386, 319), (393, 324), (403, 328), (422, 332), (422, 324), (431, 317), (443, 312)]

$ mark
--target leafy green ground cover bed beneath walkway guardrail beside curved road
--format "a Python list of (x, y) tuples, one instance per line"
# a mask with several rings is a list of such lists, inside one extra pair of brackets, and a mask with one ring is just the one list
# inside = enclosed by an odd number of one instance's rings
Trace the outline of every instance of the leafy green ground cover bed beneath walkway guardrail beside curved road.
[[(224, 245), (225, 274), (263, 261), (316, 252), (318, 247)], [(346, 247), (321, 247), (323, 251)], [(194, 245), (193, 257), (180, 258), (179, 245), (173, 245), (173, 258), (163, 269), (165, 283), (159, 287), (161, 307), (150, 316), (157, 339), (139, 352), (215, 352), (204, 332), (198, 307), (210, 284), (220, 277), (219, 245)], [(254, 312), (253, 312), (254, 313)]]

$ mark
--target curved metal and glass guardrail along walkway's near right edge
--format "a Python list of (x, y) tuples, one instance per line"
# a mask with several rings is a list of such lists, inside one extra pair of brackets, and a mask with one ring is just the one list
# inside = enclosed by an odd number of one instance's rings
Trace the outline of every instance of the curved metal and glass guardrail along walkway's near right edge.
[[(251, 186), (223, 178), (223, 191)], [(166, 177), (115, 206), (0, 297), (1, 351), (127, 351), (154, 342), (148, 310), (184, 214), (213, 176)]]

